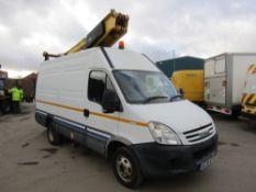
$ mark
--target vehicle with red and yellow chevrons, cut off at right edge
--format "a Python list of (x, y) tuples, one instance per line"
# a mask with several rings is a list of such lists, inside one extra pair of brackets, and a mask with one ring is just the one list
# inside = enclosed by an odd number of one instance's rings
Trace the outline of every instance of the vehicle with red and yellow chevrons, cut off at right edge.
[(256, 121), (256, 64), (251, 65), (242, 97), (242, 116)]

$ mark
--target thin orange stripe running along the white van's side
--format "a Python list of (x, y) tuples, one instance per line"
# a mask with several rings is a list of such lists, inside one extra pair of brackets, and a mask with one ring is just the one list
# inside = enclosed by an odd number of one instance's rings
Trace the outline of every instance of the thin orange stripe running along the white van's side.
[[(48, 104), (48, 105), (52, 105), (52, 106), (63, 108), (63, 109), (66, 109), (66, 110), (73, 110), (73, 111), (76, 111), (76, 112), (84, 112), (82, 109), (77, 109), (77, 108), (73, 108), (73, 106), (68, 106), (68, 105), (64, 105), (64, 104), (43, 101), (43, 100), (36, 100), (36, 102), (43, 103), (43, 104)], [(137, 125), (137, 126), (143, 126), (143, 127), (147, 126), (147, 123), (137, 122), (137, 121), (127, 120), (127, 118), (120, 118), (120, 117), (116, 117), (116, 116), (105, 115), (105, 114), (102, 114), (102, 113), (97, 113), (97, 112), (91, 112), (90, 111), (90, 114), (94, 115), (94, 116), (99, 116), (99, 117), (113, 120), (113, 121), (120, 121), (120, 122), (123, 122), (123, 123), (134, 124), (134, 125)]]

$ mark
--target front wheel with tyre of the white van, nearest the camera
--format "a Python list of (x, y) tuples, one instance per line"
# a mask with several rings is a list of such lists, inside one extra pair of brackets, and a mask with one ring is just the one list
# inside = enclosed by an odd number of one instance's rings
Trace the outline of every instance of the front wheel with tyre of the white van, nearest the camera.
[(112, 159), (112, 163), (115, 178), (121, 184), (131, 189), (142, 184), (143, 177), (138, 162), (129, 148), (119, 148)]

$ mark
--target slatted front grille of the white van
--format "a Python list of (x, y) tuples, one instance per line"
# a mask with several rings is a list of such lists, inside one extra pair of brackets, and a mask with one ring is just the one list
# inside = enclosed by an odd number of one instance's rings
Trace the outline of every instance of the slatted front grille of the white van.
[(210, 137), (213, 132), (213, 125), (212, 123), (210, 123), (198, 128), (185, 132), (183, 135), (189, 143), (197, 143)]

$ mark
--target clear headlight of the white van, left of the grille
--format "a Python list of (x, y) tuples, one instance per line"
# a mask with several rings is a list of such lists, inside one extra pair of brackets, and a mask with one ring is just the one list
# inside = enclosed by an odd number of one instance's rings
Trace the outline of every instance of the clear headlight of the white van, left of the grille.
[(168, 126), (158, 123), (158, 122), (149, 122), (148, 129), (152, 133), (155, 142), (159, 144), (166, 145), (181, 145), (181, 140), (177, 136), (177, 134)]

